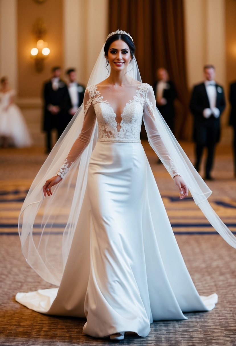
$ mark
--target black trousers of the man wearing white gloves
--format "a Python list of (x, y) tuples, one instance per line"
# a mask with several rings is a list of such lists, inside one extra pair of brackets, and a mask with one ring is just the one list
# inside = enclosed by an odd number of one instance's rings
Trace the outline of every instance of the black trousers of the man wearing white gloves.
[(204, 147), (207, 147), (207, 161), (205, 166), (206, 177), (214, 163), (215, 146), (219, 136), (219, 121), (215, 118), (206, 119), (204, 122), (196, 124), (196, 164), (199, 169)]

